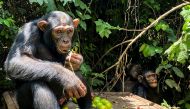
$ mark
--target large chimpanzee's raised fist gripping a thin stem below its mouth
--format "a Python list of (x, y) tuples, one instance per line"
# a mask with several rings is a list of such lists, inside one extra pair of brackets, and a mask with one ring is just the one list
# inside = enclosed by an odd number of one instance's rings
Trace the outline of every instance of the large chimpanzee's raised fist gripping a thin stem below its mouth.
[(71, 52), (65, 60), (65, 67), (69, 70), (79, 70), (83, 63), (83, 57), (80, 54)]

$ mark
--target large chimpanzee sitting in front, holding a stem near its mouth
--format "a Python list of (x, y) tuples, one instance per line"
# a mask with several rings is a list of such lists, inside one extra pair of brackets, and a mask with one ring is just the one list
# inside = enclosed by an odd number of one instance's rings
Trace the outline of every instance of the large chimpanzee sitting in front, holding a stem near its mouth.
[[(91, 93), (82, 75), (64, 67), (78, 23), (53, 11), (21, 28), (5, 61), (8, 76), (16, 82), (20, 109), (60, 109), (63, 96), (76, 97), (81, 109), (90, 109)], [(69, 59), (74, 70), (82, 60), (76, 53)]]

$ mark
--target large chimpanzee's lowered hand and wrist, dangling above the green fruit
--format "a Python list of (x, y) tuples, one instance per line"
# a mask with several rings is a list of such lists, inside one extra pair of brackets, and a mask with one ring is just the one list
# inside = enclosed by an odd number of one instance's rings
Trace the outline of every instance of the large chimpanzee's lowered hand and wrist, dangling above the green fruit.
[(61, 64), (52, 64), (52, 67), (58, 72), (60, 83), (67, 98), (80, 98), (86, 95), (87, 89), (85, 84), (73, 71), (63, 67)]

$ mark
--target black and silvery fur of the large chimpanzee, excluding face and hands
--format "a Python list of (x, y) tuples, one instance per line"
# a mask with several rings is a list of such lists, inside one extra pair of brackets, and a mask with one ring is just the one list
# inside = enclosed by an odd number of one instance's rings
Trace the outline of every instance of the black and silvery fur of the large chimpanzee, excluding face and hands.
[[(51, 29), (60, 25), (63, 16), (66, 23), (73, 25), (72, 18), (60, 11), (26, 23), (10, 49), (4, 67), (17, 84), (20, 109), (60, 109), (57, 99), (63, 94), (63, 89), (78, 84), (79, 77), (63, 67), (66, 54), (56, 51), (50, 37)], [(37, 27), (40, 20), (49, 23), (45, 32)], [(80, 79), (83, 81), (82, 76)], [(91, 106), (90, 90), (87, 89), (87, 95), (78, 99), (81, 109)]]

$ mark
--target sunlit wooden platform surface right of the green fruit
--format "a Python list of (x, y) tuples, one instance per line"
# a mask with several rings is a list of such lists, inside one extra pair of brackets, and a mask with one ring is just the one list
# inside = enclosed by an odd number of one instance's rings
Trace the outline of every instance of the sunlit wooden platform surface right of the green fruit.
[(129, 92), (102, 92), (99, 95), (110, 100), (113, 109), (163, 109), (160, 105)]

